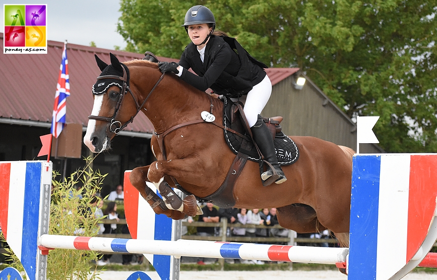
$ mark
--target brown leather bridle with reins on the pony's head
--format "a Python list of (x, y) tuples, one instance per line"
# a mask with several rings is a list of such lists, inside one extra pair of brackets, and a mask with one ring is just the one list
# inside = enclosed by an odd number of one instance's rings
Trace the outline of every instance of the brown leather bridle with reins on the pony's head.
[[(120, 93), (119, 93), (119, 96), (118, 96), (118, 100), (117, 100), (117, 104), (115, 105), (115, 111), (114, 111), (114, 114), (112, 115), (112, 117), (102, 117), (102, 116), (93, 116), (93, 115), (88, 116), (88, 119), (103, 120), (103, 121), (109, 122), (110, 123), (109, 124), (109, 131), (112, 132), (112, 133), (115, 133), (115, 134), (119, 134), (120, 131), (123, 130), (123, 128), (125, 128), (129, 123), (134, 121), (135, 116), (144, 107), (144, 104), (146, 104), (146, 101), (147, 101), (148, 97), (155, 90), (155, 88), (158, 86), (158, 84), (162, 81), (162, 79), (164, 78), (164, 74), (165, 74), (165, 73), (162, 73), (161, 77), (156, 82), (156, 84), (153, 87), (153, 89), (151, 89), (151, 91), (146, 96), (146, 99), (144, 99), (143, 103), (140, 105), (138, 103), (137, 98), (135, 98), (135, 96), (132, 93), (130, 87), (128, 86), (129, 80), (128, 80), (128, 75), (126, 73), (125, 66), (122, 65), (122, 68), (123, 68), (123, 77), (120, 77), (120, 76), (117, 76), (117, 75), (103, 75), (103, 76), (97, 77), (97, 82), (99, 80), (103, 80), (103, 79), (115, 79), (115, 80), (119, 80), (119, 81), (123, 82), (123, 86), (122, 86), (122, 89), (120, 90)], [(133, 115), (131, 117), (130, 120), (128, 120), (127, 122), (122, 124), (120, 121), (116, 120), (116, 117), (117, 117), (118, 112), (120, 111), (120, 107), (121, 107), (121, 103), (123, 101), (123, 97), (126, 95), (126, 93), (128, 91), (129, 91), (129, 93), (131, 93), (132, 98), (135, 101), (135, 105), (137, 106), (137, 112), (135, 113), (135, 115)], [(97, 95), (97, 94), (94, 94), (94, 95)]]

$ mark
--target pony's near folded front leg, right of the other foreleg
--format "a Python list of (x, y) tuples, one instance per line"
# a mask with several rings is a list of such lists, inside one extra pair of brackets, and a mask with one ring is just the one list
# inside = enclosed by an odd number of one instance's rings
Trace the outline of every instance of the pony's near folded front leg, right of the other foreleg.
[[(198, 213), (201, 214), (202, 212), (199, 211), (200, 208), (197, 206), (196, 197), (193, 194), (188, 195), (182, 200), (167, 182), (164, 181), (164, 175), (172, 176), (171, 172), (168, 172), (165, 168), (165, 165), (168, 165), (170, 162), (171, 161), (157, 161), (152, 163), (149, 166), (147, 178), (156, 186), (164, 199), (165, 205), (169, 209), (181, 211), (188, 216), (195, 216)], [(174, 168), (174, 165), (172, 166)]]

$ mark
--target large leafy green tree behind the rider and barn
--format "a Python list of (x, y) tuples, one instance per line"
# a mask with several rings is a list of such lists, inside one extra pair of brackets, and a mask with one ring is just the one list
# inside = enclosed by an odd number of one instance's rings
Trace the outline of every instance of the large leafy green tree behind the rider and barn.
[(122, 0), (127, 50), (179, 58), (195, 4), (271, 67), (299, 67), (388, 152), (435, 152), (437, 0)]

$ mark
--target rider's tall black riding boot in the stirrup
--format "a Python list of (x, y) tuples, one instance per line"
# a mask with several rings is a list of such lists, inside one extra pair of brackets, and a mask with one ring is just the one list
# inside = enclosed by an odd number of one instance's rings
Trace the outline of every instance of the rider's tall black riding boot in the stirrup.
[(263, 154), (264, 160), (269, 163), (267, 164), (266, 172), (261, 174), (263, 186), (269, 186), (273, 182), (281, 184), (287, 181), (287, 178), (278, 163), (278, 159), (276, 158), (272, 135), (261, 115), (258, 115), (258, 120), (250, 129), (252, 130), (253, 140)]

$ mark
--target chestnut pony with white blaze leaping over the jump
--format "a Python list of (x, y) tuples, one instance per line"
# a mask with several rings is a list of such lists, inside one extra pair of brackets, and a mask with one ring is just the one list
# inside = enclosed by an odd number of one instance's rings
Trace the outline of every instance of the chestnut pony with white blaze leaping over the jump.
[[(108, 73), (106, 69), (94, 87), (102, 85), (99, 81), (104, 79), (118, 79), (119, 86), (94, 92), (84, 143), (93, 153), (107, 150), (111, 139), (139, 111), (144, 113), (154, 127), (151, 150), (157, 160), (149, 166), (135, 168), (131, 183), (156, 213), (182, 219), (185, 213), (167, 208), (147, 187), (146, 181), (156, 187), (163, 181), (175, 187), (171, 176), (186, 191), (200, 198), (220, 187), (235, 155), (224, 141), (222, 128), (202, 121), (201, 112), (212, 110), (215, 122), (222, 124), (223, 102), (174, 74), (163, 75), (157, 63), (132, 60), (120, 64), (114, 55), (110, 56), (109, 66), (96, 57), (100, 69), (112, 67), (120, 74), (102, 77)], [(122, 80), (127, 81), (122, 85)], [(194, 124), (168, 131), (187, 122)], [(314, 137), (291, 138), (300, 156), (294, 164), (282, 167), (288, 180), (263, 187), (258, 163), (247, 161), (233, 188), (234, 207), (276, 207), (279, 224), (284, 228), (299, 233), (329, 229), (347, 247), (354, 151)], [(165, 156), (161, 146), (165, 148)]]

